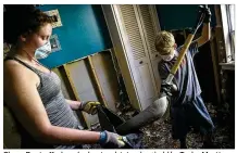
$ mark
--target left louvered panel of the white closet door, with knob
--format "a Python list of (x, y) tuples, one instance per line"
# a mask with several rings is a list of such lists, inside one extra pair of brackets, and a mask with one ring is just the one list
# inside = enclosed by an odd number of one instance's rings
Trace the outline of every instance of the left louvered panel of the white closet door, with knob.
[[(134, 78), (140, 98), (140, 105), (141, 109), (145, 110), (155, 100), (158, 90), (142, 29), (144, 27), (140, 21), (142, 17), (139, 14), (138, 5), (121, 4), (117, 5), (117, 8), (125, 30), (125, 37), (127, 37), (130, 46), (130, 50), (128, 51), (130, 51), (132, 56), (129, 60), (133, 61), (135, 66)], [(149, 16), (150, 14), (146, 15)]]

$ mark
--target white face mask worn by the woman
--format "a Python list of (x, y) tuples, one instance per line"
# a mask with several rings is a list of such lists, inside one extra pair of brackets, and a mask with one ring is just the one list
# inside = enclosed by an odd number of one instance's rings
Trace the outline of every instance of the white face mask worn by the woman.
[(51, 53), (51, 44), (50, 41), (46, 42), (46, 44), (39, 47), (35, 52), (36, 59), (45, 59)]

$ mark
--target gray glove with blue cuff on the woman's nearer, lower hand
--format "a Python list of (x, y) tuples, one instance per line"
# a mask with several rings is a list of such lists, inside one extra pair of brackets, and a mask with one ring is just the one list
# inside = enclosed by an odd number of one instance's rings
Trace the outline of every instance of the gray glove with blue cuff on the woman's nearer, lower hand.
[(110, 131), (101, 131), (99, 143), (102, 148), (107, 149), (121, 149), (125, 145), (125, 137)]

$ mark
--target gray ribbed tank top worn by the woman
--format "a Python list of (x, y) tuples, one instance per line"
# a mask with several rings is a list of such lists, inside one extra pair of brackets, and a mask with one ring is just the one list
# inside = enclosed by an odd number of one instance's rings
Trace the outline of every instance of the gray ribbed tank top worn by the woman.
[[(15, 60), (23, 64), (27, 68), (36, 73), (40, 78), (40, 85), (37, 87), (42, 104), (46, 109), (47, 115), (51, 125), (58, 127), (66, 127), (78, 129), (79, 122), (74, 115), (72, 109), (65, 101), (65, 98), (61, 90), (61, 81), (58, 75), (50, 71), (50, 73), (43, 73), (17, 58), (7, 58), (5, 60)], [(4, 60), (4, 61), (5, 61)], [(54, 148), (54, 149), (73, 149), (75, 145), (52, 145), (39, 143), (33, 139), (33, 137), (21, 126), (22, 135), (22, 148)]]

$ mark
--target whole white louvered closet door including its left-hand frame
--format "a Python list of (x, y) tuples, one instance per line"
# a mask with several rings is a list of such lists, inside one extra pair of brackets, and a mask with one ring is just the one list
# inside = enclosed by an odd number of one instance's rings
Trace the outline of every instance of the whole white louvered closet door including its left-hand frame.
[(102, 5), (129, 100), (139, 110), (149, 106), (159, 94), (159, 59), (153, 41), (160, 27), (155, 27), (159, 23), (154, 24), (150, 7)]

